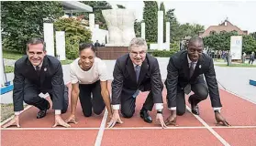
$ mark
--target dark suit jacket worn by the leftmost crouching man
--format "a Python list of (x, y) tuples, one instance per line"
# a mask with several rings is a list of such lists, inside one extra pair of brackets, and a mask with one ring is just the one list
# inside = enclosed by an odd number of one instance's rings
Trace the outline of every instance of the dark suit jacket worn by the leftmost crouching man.
[(28, 56), (21, 57), (15, 63), (13, 101), (14, 110), (23, 110), (23, 96), (25, 84), (33, 84), (39, 90), (51, 90), (52, 109), (62, 110), (64, 81), (61, 62), (50, 56), (45, 56), (38, 76), (35, 68), (28, 60)]

